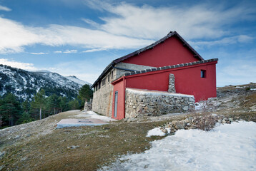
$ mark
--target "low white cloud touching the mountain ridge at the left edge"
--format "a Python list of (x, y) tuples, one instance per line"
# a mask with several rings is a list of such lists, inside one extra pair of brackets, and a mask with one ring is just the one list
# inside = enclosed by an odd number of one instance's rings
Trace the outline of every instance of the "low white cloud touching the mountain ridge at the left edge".
[(36, 71), (37, 68), (34, 67), (33, 63), (21, 63), (21, 62), (17, 62), (17, 61), (10, 61), (9, 59), (6, 58), (0, 58), (0, 63), (6, 66), (11, 66), (14, 68), (21, 68), (24, 70), (28, 70), (28, 71)]

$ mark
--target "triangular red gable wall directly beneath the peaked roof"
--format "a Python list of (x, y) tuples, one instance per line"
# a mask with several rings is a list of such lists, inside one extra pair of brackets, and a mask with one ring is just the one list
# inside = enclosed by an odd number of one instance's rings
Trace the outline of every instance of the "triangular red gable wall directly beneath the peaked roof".
[(143, 51), (138, 56), (133, 56), (122, 61), (142, 66), (172, 66), (179, 63), (199, 61), (194, 54), (176, 37), (167, 38), (164, 43), (159, 43), (151, 50)]

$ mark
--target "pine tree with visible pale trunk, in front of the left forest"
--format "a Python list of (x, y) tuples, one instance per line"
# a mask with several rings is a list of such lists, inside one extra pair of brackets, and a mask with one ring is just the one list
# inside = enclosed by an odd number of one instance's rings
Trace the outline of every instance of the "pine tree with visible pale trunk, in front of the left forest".
[(44, 89), (39, 90), (39, 92), (34, 95), (34, 101), (31, 103), (32, 108), (39, 108), (39, 119), (41, 120), (41, 110), (46, 105), (46, 97)]

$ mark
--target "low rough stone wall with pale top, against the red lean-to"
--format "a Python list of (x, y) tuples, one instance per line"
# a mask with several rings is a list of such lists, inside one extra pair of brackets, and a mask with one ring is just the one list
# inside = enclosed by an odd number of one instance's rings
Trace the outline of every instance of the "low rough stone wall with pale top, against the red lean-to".
[(193, 95), (127, 88), (125, 117), (187, 112), (194, 104)]

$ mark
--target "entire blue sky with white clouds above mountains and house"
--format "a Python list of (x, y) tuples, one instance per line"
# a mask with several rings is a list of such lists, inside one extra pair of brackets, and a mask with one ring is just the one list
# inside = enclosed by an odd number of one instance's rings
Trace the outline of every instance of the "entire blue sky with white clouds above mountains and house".
[(219, 58), (217, 86), (256, 82), (256, 1), (0, 0), (0, 63), (93, 83), (169, 31)]

